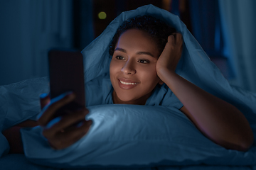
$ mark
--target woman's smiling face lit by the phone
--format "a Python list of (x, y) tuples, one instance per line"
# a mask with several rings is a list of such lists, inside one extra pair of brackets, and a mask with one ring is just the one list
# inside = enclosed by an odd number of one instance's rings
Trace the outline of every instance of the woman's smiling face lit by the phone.
[(146, 103), (156, 84), (159, 50), (150, 35), (130, 29), (120, 35), (110, 63), (114, 103)]

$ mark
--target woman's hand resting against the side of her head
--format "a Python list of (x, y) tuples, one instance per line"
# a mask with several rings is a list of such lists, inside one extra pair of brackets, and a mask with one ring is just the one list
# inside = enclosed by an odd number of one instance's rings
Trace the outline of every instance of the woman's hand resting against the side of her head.
[(168, 42), (156, 62), (156, 72), (158, 75), (165, 70), (175, 72), (178, 61), (181, 58), (182, 44), (183, 40), (181, 33), (169, 35)]

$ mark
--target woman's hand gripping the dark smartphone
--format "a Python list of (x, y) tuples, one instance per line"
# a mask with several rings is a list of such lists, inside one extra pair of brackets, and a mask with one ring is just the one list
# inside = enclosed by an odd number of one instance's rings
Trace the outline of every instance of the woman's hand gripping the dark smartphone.
[(51, 101), (49, 96), (41, 97), (42, 111), (38, 118), (38, 125), (41, 125), (43, 136), (54, 149), (63, 149), (77, 142), (87, 134), (92, 125), (92, 120), (85, 120), (85, 115), (89, 113), (86, 108), (70, 111), (55, 118), (56, 111), (74, 99), (75, 94), (62, 94)]

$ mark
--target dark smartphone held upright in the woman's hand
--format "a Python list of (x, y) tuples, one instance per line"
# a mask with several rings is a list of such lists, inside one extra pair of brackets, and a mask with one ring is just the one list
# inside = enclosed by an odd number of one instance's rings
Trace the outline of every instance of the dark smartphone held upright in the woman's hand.
[(60, 108), (56, 117), (85, 107), (85, 81), (82, 54), (73, 50), (49, 50), (50, 98), (73, 91), (75, 100)]

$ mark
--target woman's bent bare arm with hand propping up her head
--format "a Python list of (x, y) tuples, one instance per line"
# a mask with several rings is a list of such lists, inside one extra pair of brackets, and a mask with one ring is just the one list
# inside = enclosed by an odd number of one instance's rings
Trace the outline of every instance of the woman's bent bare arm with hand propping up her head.
[(181, 111), (210, 140), (227, 149), (245, 151), (253, 143), (253, 133), (245, 116), (235, 106), (209, 94), (174, 71), (181, 57), (182, 37), (169, 36), (159, 57), (159, 78), (183, 103)]

